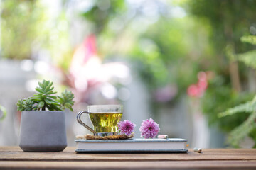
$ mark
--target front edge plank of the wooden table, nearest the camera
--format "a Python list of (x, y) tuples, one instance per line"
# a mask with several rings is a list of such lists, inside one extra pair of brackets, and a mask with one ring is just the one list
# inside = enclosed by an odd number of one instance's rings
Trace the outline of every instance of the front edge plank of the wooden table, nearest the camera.
[(256, 161), (0, 162), (0, 169), (255, 169)]

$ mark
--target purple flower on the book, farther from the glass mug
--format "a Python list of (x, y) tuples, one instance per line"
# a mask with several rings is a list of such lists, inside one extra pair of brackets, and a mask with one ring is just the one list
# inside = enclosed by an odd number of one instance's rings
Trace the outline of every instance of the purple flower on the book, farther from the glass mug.
[(152, 118), (143, 120), (142, 126), (139, 128), (141, 137), (145, 137), (146, 139), (156, 137), (159, 130), (159, 124), (155, 123)]

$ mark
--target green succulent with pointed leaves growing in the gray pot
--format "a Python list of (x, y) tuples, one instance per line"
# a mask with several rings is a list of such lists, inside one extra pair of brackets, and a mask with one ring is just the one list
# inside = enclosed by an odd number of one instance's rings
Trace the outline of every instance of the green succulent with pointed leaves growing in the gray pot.
[(53, 82), (43, 80), (38, 82), (36, 87), (37, 94), (32, 97), (18, 100), (16, 104), (18, 111), (63, 111), (65, 108), (69, 108), (73, 111), (72, 106), (74, 104), (74, 94), (71, 91), (64, 91), (61, 96), (53, 96), (57, 92), (53, 91)]

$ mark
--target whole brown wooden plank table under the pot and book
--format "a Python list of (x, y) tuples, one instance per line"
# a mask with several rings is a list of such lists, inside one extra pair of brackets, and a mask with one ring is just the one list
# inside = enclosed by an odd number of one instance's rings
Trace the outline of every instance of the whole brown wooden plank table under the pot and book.
[(0, 169), (256, 169), (256, 149), (188, 149), (186, 154), (76, 154), (0, 147)]

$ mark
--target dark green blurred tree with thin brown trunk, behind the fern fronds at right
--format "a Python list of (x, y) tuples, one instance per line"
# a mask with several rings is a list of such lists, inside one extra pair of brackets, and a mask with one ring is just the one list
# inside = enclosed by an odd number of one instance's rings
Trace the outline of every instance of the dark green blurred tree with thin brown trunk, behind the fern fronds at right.
[[(233, 54), (255, 48), (242, 43), (240, 37), (256, 33), (256, 1), (195, 0), (187, 1), (185, 6), (193, 16), (207, 21), (211, 28), (210, 40), (214, 52), (210, 57), (208, 69), (212, 69), (216, 76), (209, 81), (208, 89), (203, 96), (203, 113), (208, 116), (210, 124), (217, 123), (222, 130), (230, 132), (250, 115), (242, 111), (232, 117), (218, 118), (218, 113), (253, 97), (248, 88), (249, 69), (245, 64), (238, 63)], [(240, 60), (246, 59), (244, 57)]]

